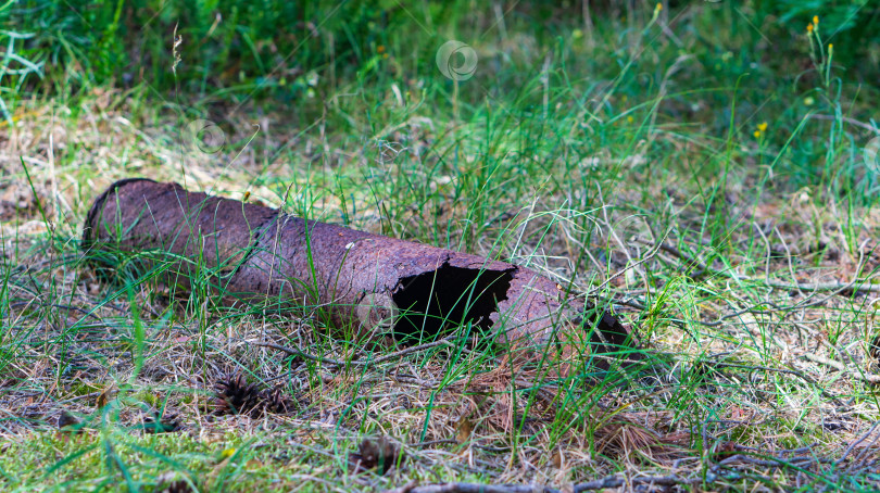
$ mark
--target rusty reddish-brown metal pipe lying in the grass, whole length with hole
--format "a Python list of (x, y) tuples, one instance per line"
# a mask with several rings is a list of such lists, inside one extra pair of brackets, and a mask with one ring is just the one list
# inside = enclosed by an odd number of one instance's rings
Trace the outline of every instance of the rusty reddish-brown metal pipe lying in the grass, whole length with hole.
[(111, 186), (89, 211), (83, 248), (109, 268), (113, 256), (102, 253), (158, 252), (178, 286), (189, 288), (198, 268), (226, 304), (323, 306), (335, 327), (359, 337), (470, 321), (517, 344), (580, 341), (594, 326), (590, 340), (599, 351), (631, 344), (614, 317), (593, 314), (526, 267), (304, 220), (177, 184)]

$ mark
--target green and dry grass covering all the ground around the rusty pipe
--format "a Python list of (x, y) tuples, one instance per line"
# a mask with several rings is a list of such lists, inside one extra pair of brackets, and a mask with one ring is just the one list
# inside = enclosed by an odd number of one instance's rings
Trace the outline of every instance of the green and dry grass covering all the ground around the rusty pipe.
[[(4, 491), (877, 486), (875, 8), (210, 3), (0, 5)], [(450, 39), (473, 78), (438, 69)], [(649, 358), (524, 382), (453, 327), (453, 349), (362, 365), (401, 347), (334, 337), (352, 328), (320, 306), (218, 306), (203, 260), (191, 292), (142, 268), (153, 253), (102, 278), (80, 228), (130, 176), (527, 265), (638, 327)], [(297, 410), (211, 416), (230, 371)], [(163, 413), (181, 431), (144, 433)], [(351, 473), (379, 435), (405, 462)]]

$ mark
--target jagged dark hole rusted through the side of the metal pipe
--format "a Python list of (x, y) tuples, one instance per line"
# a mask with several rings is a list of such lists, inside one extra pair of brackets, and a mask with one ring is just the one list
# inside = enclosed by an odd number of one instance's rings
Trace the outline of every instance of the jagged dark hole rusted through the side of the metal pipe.
[(482, 329), (498, 302), (507, 299), (512, 270), (480, 270), (443, 265), (400, 280), (391, 298), (400, 309), (399, 336), (437, 333), (447, 325), (473, 323)]

